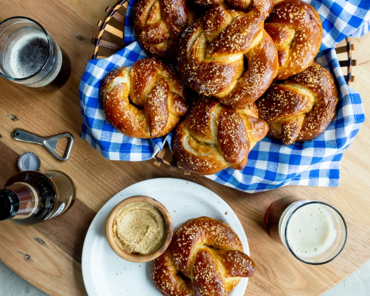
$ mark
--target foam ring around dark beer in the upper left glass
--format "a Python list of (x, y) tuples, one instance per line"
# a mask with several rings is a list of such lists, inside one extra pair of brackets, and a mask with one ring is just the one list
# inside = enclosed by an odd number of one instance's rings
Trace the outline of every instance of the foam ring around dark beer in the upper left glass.
[(49, 53), (45, 34), (34, 31), (19, 37), (9, 54), (9, 67), (15, 78), (29, 77), (42, 68)]

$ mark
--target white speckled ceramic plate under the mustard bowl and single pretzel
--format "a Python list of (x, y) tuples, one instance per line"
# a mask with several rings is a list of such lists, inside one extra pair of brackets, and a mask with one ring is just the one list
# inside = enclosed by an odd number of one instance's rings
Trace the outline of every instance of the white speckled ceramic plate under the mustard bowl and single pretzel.
[[(170, 212), (177, 229), (188, 219), (208, 216), (226, 222), (238, 234), (249, 255), (247, 237), (238, 217), (211, 190), (181, 179), (160, 178), (131, 185), (114, 195), (99, 211), (87, 231), (82, 251), (82, 276), (89, 296), (161, 296), (150, 275), (150, 262), (133, 263), (118, 257), (109, 246), (105, 225), (111, 210), (133, 195), (157, 199)], [(228, 293), (243, 296), (248, 278)]]

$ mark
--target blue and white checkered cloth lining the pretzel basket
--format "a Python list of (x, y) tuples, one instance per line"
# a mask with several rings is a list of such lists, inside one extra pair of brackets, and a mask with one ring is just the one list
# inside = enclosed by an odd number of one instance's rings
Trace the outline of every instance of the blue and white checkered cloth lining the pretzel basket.
[[(244, 170), (231, 168), (207, 176), (227, 186), (246, 192), (259, 192), (283, 185), (339, 185), (340, 159), (353, 142), (365, 120), (358, 92), (344, 80), (333, 46), (346, 36), (360, 37), (370, 29), (370, 0), (307, 0), (321, 16), (323, 43), (316, 59), (329, 69), (339, 89), (337, 116), (328, 129), (313, 141), (284, 146), (279, 140), (265, 137), (249, 153)], [(79, 97), (82, 113), (82, 139), (112, 160), (138, 161), (152, 158), (163, 145), (171, 145), (171, 136), (146, 140), (119, 133), (105, 121), (99, 101), (100, 82), (111, 70), (130, 66), (146, 57), (135, 41), (131, 0), (126, 14), (125, 43), (131, 43), (107, 59), (89, 61), (81, 78)]]

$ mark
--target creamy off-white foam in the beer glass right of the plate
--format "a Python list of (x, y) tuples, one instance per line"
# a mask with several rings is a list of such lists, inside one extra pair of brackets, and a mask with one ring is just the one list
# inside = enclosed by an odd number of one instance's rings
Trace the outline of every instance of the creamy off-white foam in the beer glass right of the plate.
[(299, 208), (287, 229), (289, 246), (298, 257), (315, 257), (334, 243), (336, 230), (330, 213), (319, 204)]

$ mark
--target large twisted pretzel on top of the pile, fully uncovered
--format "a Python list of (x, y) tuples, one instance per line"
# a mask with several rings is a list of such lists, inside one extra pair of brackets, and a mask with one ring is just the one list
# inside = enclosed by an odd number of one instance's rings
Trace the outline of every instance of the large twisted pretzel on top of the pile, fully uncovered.
[(263, 20), (258, 8), (245, 13), (216, 5), (192, 22), (180, 40), (178, 58), (189, 87), (232, 107), (256, 101), (278, 67), (276, 48)]

